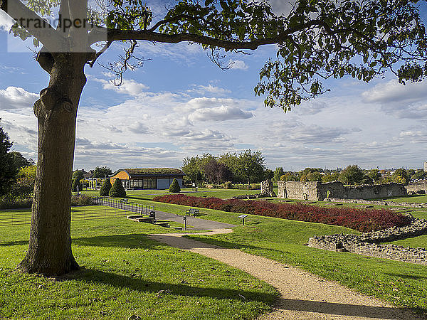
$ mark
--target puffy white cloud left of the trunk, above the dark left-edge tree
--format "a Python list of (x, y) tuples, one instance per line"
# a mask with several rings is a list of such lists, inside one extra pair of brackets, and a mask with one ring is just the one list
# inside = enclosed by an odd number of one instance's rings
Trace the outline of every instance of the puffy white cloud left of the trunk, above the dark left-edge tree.
[(0, 90), (0, 110), (32, 108), (37, 99), (36, 93), (21, 87), (6, 87), (5, 90)]

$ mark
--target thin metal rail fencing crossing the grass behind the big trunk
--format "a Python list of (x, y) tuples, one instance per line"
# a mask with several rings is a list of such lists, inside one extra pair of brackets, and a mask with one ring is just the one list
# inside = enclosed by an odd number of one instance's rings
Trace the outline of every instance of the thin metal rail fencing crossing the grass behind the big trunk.
[[(76, 206), (71, 208), (71, 220), (93, 220), (106, 218), (122, 218), (129, 215), (129, 212), (139, 215), (150, 215), (154, 212), (154, 206), (144, 206), (139, 203), (126, 203), (109, 198), (93, 198), (95, 206), (105, 208), (90, 208), (88, 206)], [(2, 213), (0, 211), (0, 227), (13, 225), (31, 224), (31, 212), (23, 210), (10, 210)]]

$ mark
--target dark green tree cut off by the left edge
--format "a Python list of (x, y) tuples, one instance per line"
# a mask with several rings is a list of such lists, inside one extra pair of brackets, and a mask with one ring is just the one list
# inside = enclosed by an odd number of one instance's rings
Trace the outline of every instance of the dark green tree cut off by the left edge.
[(18, 169), (14, 164), (14, 159), (9, 154), (12, 143), (9, 136), (0, 127), (0, 196), (6, 194), (13, 185)]

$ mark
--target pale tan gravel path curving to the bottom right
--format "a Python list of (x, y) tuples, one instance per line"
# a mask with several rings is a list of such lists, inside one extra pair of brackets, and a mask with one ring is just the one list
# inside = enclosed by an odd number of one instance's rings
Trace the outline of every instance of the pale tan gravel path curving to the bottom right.
[[(212, 230), (204, 235), (231, 233)], [(270, 314), (261, 319), (422, 319), (404, 309), (367, 297), (295, 267), (206, 243), (182, 238), (182, 233), (149, 235), (173, 247), (199, 253), (241, 269), (278, 289), (282, 297)]]

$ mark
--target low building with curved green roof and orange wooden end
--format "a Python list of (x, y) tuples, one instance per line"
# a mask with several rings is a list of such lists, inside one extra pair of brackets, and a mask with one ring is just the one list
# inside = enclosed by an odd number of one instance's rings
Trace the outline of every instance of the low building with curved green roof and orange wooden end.
[(167, 189), (174, 178), (182, 188), (183, 176), (185, 174), (181, 169), (137, 168), (117, 170), (110, 178), (111, 183), (120, 178), (125, 189)]

